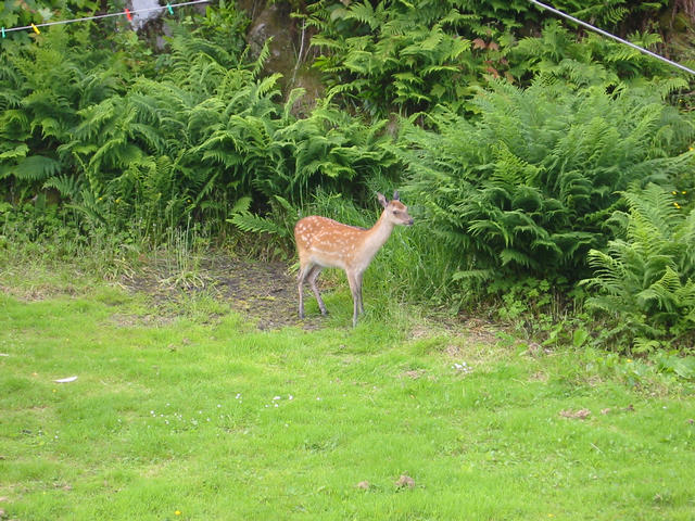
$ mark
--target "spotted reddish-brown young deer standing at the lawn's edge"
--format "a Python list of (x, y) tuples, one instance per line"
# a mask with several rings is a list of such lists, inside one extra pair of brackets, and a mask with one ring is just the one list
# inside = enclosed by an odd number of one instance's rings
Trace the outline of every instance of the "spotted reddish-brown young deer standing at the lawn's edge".
[(396, 225), (413, 225), (413, 218), (408, 215), (407, 206), (401, 202), (397, 190), (393, 192), (391, 201), (387, 201), (379, 192), (377, 199), (383, 211), (379, 220), (369, 229), (343, 225), (319, 215), (304, 217), (294, 226), (294, 242), (300, 257), (300, 318), (304, 318), (304, 282), (308, 282), (312, 288), (321, 315), (328, 314), (316, 279), (324, 268), (340, 268), (348, 276), (352, 293), (352, 326), (357, 326), (357, 316), (365, 310), (362, 302), (362, 278), (365, 270), (389, 240)]

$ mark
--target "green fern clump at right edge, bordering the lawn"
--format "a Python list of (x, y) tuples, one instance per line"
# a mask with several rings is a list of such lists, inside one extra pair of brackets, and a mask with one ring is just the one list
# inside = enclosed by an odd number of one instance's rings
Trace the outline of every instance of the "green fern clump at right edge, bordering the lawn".
[(656, 185), (623, 193), (629, 211), (617, 212), (623, 236), (605, 252), (592, 250), (596, 291), (590, 308), (608, 317), (602, 339), (622, 341), (634, 352), (653, 351), (667, 339), (692, 347), (695, 331), (695, 211), (685, 213)]

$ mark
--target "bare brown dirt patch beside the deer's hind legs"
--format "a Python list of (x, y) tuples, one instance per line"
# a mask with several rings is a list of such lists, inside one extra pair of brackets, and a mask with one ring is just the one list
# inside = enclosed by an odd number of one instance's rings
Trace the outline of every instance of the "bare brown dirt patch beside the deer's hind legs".
[(194, 269), (187, 271), (172, 270), (160, 263), (124, 276), (118, 283), (130, 292), (149, 295), (159, 307), (176, 308), (168, 304), (208, 294), (248, 317), (261, 330), (285, 326), (316, 329), (323, 323), (318, 315), (299, 318), (296, 278), (287, 264), (279, 262), (215, 256), (200, 259)]

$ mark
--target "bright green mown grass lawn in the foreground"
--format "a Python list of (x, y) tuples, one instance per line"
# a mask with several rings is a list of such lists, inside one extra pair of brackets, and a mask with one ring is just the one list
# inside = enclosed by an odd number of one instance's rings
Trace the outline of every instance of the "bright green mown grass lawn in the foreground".
[(261, 332), (0, 295), (0, 518), (695, 519), (691, 386), (336, 307)]

